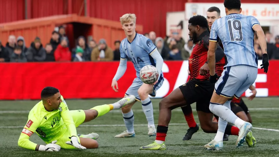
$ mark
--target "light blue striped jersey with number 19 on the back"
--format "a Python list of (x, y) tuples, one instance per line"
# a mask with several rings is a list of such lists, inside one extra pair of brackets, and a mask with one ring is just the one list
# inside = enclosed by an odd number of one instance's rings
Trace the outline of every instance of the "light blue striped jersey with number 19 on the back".
[(210, 32), (210, 41), (222, 41), (228, 63), (258, 67), (258, 56), (254, 50), (253, 27), (260, 25), (253, 16), (230, 14), (214, 21)]

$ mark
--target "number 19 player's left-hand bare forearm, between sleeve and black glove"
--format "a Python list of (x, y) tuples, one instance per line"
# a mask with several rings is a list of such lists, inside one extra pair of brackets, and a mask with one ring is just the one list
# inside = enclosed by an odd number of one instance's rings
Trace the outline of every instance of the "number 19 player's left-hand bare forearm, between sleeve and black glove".
[(209, 47), (207, 52), (207, 62), (209, 66), (209, 73), (214, 76), (215, 73), (215, 51), (217, 49), (217, 42), (209, 41)]

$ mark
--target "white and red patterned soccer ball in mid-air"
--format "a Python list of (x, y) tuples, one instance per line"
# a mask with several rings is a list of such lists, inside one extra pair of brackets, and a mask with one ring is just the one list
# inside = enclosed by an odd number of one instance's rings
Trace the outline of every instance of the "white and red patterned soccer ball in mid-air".
[(159, 77), (157, 68), (153, 65), (145, 65), (139, 72), (139, 77), (143, 83), (153, 84)]

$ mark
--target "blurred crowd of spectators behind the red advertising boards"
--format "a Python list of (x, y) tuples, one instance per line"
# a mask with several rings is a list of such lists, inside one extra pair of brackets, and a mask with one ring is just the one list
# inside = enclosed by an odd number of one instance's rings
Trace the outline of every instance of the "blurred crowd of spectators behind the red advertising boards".
[[(272, 34), (265, 33), (267, 40), (267, 52), (271, 59), (279, 59), (279, 36), (272, 41)], [(164, 60), (188, 60), (194, 47), (194, 43), (188, 40), (187, 43), (178, 33), (171, 33), (165, 38), (156, 37), (155, 32), (144, 34), (156, 45)], [(24, 37), (10, 35), (4, 47), (0, 41), (0, 62), (51, 62), (51, 61), (119, 61), (120, 43), (114, 42), (115, 50), (108, 47), (105, 39), (86, 42), (83, 36), (78, 37), (77, 45), (70, 50), (69, 39), (65, 34), (65, 28), (59, 27), (59, 31), (53, 31), (50, 42), (45, 45), (41, 39), (36, 37), (27, 47)], [(259, 59), (262, 59), (262, 51), (258, 39), (255, 37), (255, 52)]]

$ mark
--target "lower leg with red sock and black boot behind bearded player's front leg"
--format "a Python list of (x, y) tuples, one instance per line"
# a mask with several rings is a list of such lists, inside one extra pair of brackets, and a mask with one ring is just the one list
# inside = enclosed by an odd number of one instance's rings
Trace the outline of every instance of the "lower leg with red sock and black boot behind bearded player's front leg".
[(189, 129), (187, 130), (187, 133), (185, 134), (185, 136), (183, 138), (184, 141), (185, 140), (187, 141), (187, 140), (190, 140), (192, 138), (193, 134), (199, 130), (199, 126), (197, 125), (197, 123), (194, 119), (191, 105), (183, 106), (183, 107), (181, 107), (181, 109), (184, 114), (185, 120), (189, 126)]

